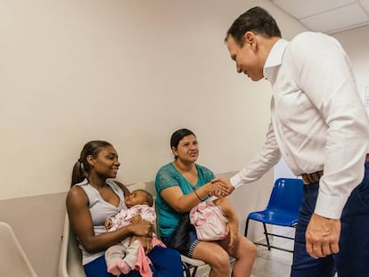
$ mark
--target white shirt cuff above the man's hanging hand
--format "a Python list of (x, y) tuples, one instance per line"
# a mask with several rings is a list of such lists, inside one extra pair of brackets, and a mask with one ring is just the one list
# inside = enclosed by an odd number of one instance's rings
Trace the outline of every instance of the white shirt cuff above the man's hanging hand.
[(322, 191), (319, 191), (314, 213), (327, 218), (340, 219), (347, 200), (347, 197), (326, 195)]

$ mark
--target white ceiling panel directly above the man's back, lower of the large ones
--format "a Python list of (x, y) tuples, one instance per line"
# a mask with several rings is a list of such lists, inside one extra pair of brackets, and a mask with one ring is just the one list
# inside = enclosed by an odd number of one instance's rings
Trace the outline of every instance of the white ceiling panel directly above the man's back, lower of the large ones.
[(367, 15), (357, 4), (323, 12), (301, 19), (301, 22), (314, 31), (331, 32), (346, 29), (347, 26), (360, 26), (367, 21)]

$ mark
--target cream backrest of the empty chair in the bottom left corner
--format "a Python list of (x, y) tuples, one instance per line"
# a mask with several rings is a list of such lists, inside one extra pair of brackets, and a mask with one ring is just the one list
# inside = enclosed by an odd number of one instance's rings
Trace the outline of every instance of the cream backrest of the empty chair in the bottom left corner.
[(0, 222), (0, 273), (2, 276), (37, 277), (12, 227)]

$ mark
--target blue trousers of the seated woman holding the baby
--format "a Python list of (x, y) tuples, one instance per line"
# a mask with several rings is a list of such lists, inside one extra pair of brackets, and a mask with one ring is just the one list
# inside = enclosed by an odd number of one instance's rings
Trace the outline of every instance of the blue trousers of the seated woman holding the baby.
[[(155, 247), (147, 255), (152, 261), (153, 277), (181, 277), (184, 275), (181, 257), (179, 253), (170, 248)], [(87, 277), (114, 277), (107, 272), (105, 257), (98, 257), (94, 261), (84, 266)], [(133, 270), (127, 274), (121, 274), (125, 277), (140, 277), (140, 273)]]

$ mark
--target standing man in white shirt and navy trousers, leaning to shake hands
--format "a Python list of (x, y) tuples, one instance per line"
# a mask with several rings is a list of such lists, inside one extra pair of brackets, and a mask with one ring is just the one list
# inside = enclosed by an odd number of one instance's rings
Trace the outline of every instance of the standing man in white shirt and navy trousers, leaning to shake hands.
[(238, 73), (271, 83), (272, 119), (258, 156), (215, 181), (231, 192), (283, 156), (305, 183), (291, 276), (369, 276), (369, 120), (347, 54), (321, 33), (284, 40), (259, 7), (234, 20), (225, 43)]

